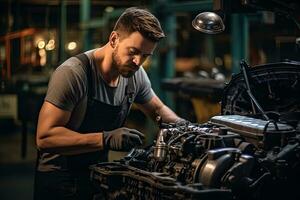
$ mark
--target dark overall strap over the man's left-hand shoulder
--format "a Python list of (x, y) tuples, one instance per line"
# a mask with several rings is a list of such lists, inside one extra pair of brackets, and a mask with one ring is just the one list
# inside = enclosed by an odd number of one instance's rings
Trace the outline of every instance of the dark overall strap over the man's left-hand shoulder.
[(83, 70), (85, 71), (86, 76), (87, 76), (87, 81), (88, 81), (87, 96), (93, 97), (95, 90), (94, 90), (94, 84), (92, 81), (93, 77), (92, 77), (92, 69), (91, 69), (90, 60), (85, 53), (78, 54), (75, 57), (81, 61)]

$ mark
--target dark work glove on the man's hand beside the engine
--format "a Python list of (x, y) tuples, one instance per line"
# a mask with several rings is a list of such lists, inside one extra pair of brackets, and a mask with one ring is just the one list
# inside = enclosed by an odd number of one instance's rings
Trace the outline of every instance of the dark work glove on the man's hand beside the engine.
[(143, 144), (143, 133), (126, 127), (103, 131), (104, 148), (114, 151), (129, 151), (135, 146)]

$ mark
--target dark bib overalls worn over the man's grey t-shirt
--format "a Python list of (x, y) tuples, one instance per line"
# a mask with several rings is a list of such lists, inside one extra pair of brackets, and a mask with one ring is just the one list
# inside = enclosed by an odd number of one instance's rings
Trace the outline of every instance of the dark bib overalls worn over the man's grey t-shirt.
[[(94, 85), (91, 66), (85, 54), (76, 56), (84, 66), (88, 77), (88, 103), (86, 114), (78, 132), (91, 133), (109, 131), (124, 125), (133, 101), (133, 77), (128, 79), (125, 98), (121, 105), (113, 106), (94, 99)], [(55, 172), (36, 172), (35, 200), (89, 200), (93, 198), (94, 189), (90, 182), (88, 167), (108, 160), (108, 150), (85, 153), (74, 156), (60, 156), (57, 163), (66, 165), (65, 170)]]

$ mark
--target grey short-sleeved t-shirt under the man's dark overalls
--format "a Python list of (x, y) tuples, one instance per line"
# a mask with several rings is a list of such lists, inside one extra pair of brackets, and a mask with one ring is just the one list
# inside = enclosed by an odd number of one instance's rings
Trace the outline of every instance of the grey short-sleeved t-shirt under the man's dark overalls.
[[(94, 98), (106, 104), (120, 105), (125, 98), (128, 79), (121, 76), (116, 87), (109, 86), (94, 63), (93, 52), (94, 50), (90, 50), (85, 53), (92, 68)], [(133, 79), (135, 84), (134, 102), (140, 104), (148, 102), (154, 92), (143, 67), (140, 67), (134, 74)], [(87, 90), (87, 76), (82, 63), (78, 58), (71, 57), (54, 71), (45, 100), (63, 110), (71, 111), (72, 115), (67, 126), (76, 130), (85, 115)]]

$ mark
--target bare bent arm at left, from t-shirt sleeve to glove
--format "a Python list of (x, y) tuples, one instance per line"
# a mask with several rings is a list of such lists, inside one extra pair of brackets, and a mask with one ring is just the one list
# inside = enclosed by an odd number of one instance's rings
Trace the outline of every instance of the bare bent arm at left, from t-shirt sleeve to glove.
[(39, 149), (73, 155), (103, 149), (100, 133), (81, 134), (66, 128), (71, 113), (45, 101), (39, 114), (36, 143)]

